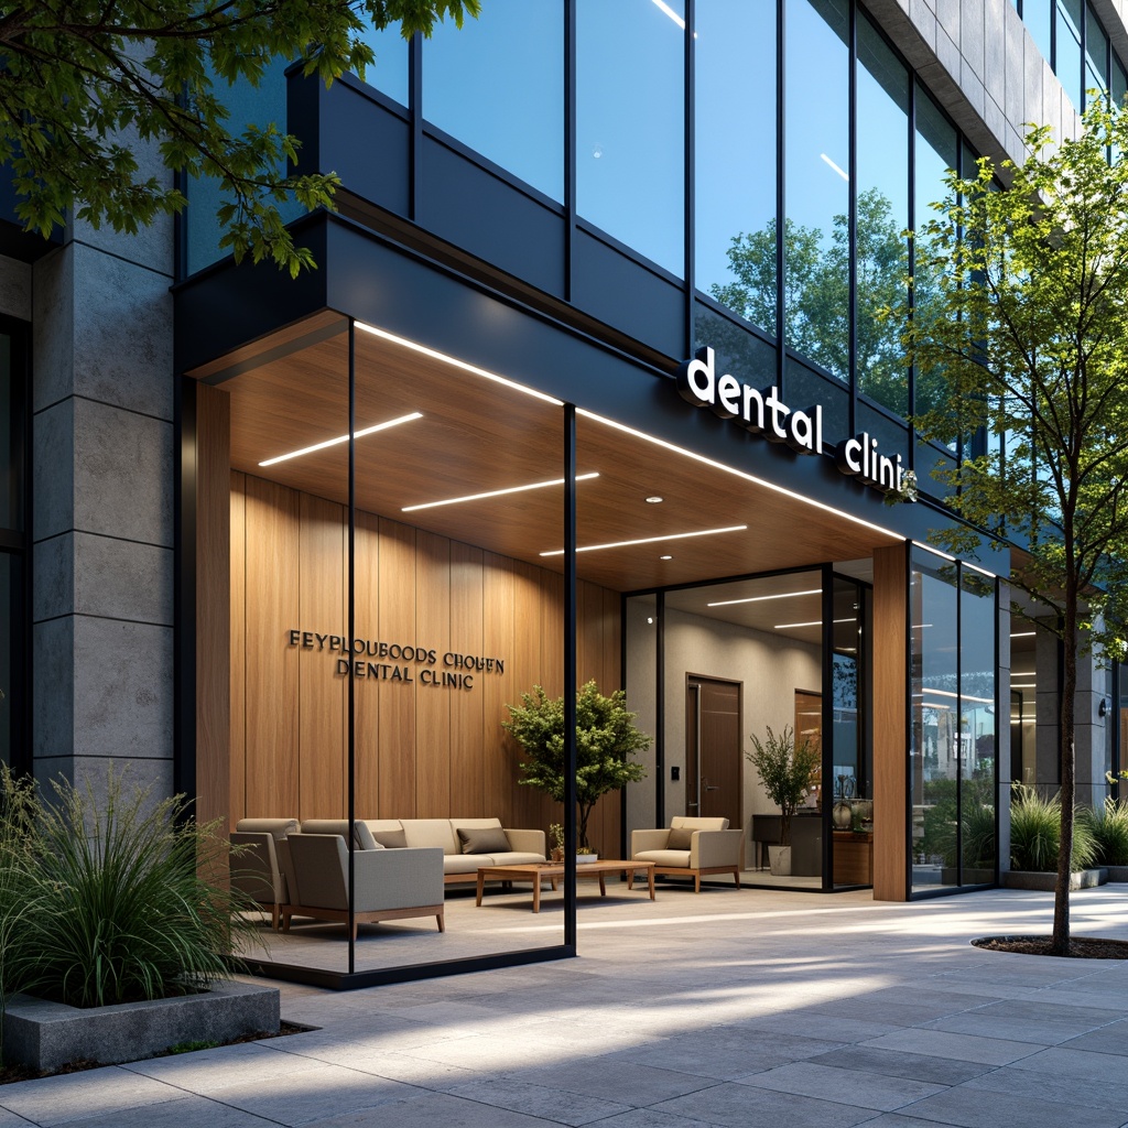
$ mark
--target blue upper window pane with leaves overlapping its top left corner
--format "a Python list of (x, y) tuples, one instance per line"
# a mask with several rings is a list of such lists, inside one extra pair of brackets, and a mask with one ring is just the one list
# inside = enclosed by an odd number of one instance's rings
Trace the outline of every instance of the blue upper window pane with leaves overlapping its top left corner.
[(559, 0), (490, 0), (423, 43), (423, 114), (539, 188), (564, 199), (564, 15)]

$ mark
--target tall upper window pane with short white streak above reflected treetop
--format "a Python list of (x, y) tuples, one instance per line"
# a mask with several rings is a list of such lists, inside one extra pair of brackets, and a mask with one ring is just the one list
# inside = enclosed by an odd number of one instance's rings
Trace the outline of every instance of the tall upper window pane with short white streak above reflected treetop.
[(849, 30), (846, 0), (787, 0), (787, 344), (849, 376)]

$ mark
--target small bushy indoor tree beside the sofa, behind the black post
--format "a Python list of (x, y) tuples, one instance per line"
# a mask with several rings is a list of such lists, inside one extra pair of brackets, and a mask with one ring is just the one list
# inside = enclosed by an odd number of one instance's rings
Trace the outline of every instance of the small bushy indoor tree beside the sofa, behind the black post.
[[(506, 705), (510, 720), (502, 728), (525, 749), (520, 783), (539, 787), (557, 803), (564, 802), (564, 698), (546, 697), (540, 686), (521, 694), (520, 705)], [(646, 769), (632, 760), (650, 748), (650, 737), (635, 728), (637, 714), (626, 706), (626, 694), (610, 697), (587, 682), (575, 695), (575, 801), (579, 845), (587, 847), (588, 818), (600, 796), (646, 778)]]

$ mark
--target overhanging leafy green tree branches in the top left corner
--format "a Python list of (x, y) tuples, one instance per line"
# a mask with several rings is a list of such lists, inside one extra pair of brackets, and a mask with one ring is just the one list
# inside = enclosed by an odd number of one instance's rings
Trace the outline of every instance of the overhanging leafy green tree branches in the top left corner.
[(138, 143), (165, 167), (214, 177), (223, 203), (221, 247), (236, 259), (311, 266), (280, 204), (331, 206), (333, 173), (288, 176), (297, 140), (276, 124), (233, 123), (224, 97), (257, 86), (276, 59), (300, 60), (326, 85), (374, 62), (361, 38), (399, 21), (430, 35), (459, 27), (479, 0), (17, 0), (0, 9), (0, 160), (14, 173), (17, 213), (44, 236), (78, 218), (134, 232), (179, 212), (184, 195), (142, 168)]

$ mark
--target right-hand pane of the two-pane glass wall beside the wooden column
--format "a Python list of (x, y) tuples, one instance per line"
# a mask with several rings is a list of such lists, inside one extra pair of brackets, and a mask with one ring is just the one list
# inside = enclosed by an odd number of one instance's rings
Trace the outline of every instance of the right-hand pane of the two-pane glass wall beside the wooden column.
[(962, 570), (960, 590), (961, 883), (995, 880), (995, 581)]

